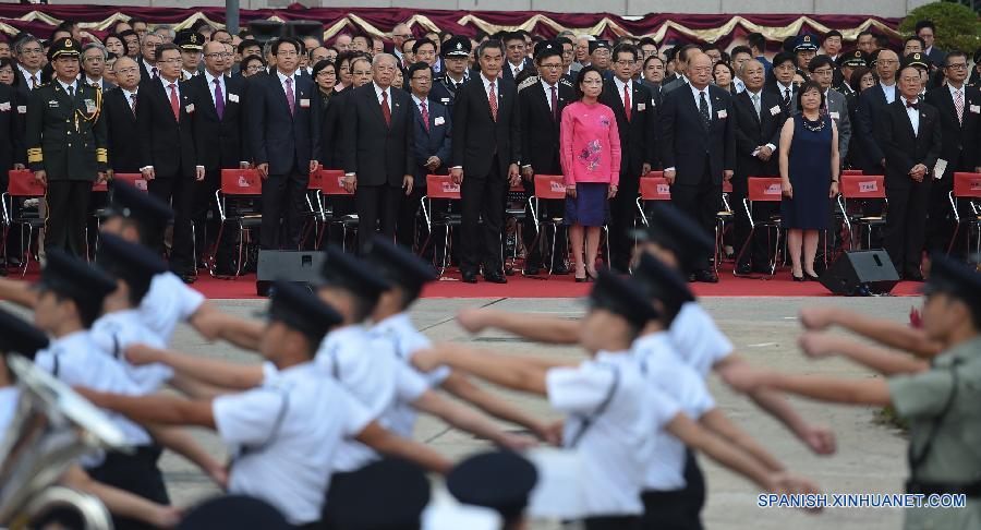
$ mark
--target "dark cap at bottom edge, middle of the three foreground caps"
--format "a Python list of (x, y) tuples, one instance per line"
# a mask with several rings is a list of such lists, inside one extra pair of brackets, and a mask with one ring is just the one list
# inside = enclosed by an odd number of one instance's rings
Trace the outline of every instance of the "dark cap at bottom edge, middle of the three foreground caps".
[(386, 458), (346, 475), (330, 502), (339, 529), (416, 529), (429, 504), (429, 481), (417, 465)]

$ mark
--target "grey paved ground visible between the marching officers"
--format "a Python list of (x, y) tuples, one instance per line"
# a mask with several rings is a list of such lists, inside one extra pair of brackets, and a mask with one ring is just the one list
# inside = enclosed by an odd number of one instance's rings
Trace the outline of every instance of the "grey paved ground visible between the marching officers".
[[(835, 303), (906, 321), (911, 298), (835, 299)], [(218, 302), (222, 309), (251, 314), (261, 301)], [(811, 362), (797, 350), (796, 338), (799, 324), (798, 309), (815, 303), (808, 298), (717, 298), (703, 299), (703, 303), (716, 317), (720, 327), (736, 345), (737, 350), (760, 365), (782, 371), (799, 373), (849, 374), (857, 377), (870, 374), (856, 366), (826, 360)], [(821, 300), (818, 303), (828, 303)], [(543, 347), (529, 344), (501, 334), (486, 333), (470, 337), (453, 322), (457, 310), (467, 305), (494, 304), (512, 311), (535, 311), (561, 316), (576, 316), (583, 306), (571, 300), (424, 300), (413, 311), (416, 324), (426, 335), (436, 340), (474, 341), (477, 345), (516, 354), (536, 353), (559, 358), (578, 358), (581, 351), (568, 348)], [(223, 345), (208, 345), (193, 332), (179, 329), (175, 348), (208, 357), (226, 358), (233, 361), (254, 362), (255, 357)], [(753, 433), (779, 458), (801, 474), (821, 482), (826, 492), (899, 492), (906, 475), (905, 439), (896, 430), (879, 423), (872, 408), (845, 408), (818, 405), (796, 400), (800, 410), (818, 422), (831, 425), (838, 436), (838, 453), (833, 457), (818, 457), (810, 454), (796, 438), (782, 430), (773, 420), (762, 414), (747, 399), (737, 397), (713, 377), (710, 386), (719, 406), (743, 429)], [(537, 398), (502, 392), (508, 399), (545, 417), (554, 417), (547, 405)], [(208, 433), (202, 439), (216, 453), (220, 444)], [(459, 457), (479, 450), (485, 443), (468, 434), (448, 429), (435, 420), (424, 419), (417, 426), (415, 436), (436, 447), (448, 456)], [(794, 510), (761, 510), (756, 507), (754, 486), (706, 458), (702, 458), (708, 482), (708, 504), (704, 513), (707, 528), (723, 529), (825, 529), (825, 528), (898, 528), (901, 514), (892, 509), (849, 509), (825, 511), (822, 515), (807, 515)], [(195, 499), (214, 492), (213, 486), (201, 473), (178, 457), (166, 456), (164, 469), (171, 495), (179, 505), (192, 504)], [(535, 525), (536, 529), (554, 528), (554, 525)]]

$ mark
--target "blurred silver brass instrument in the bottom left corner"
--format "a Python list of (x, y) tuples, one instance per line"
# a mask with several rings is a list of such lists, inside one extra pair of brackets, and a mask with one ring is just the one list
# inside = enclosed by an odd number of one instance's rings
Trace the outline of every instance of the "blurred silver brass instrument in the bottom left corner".
[(0, 439), (0, 527), (31, 528), (56, 509), (77, 515), (85, 529), (111, 530), (95, 496), (57, 485), (83, 455), (119, 449), (125, 437), (106, 415), (27, 359), (8, 354), (20, 399)]

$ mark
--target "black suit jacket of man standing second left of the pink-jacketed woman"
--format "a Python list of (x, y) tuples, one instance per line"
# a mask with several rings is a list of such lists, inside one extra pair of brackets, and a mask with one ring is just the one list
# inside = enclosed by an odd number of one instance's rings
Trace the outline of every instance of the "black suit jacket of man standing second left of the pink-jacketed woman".
[(474, 75), (458, 91), (453, 101), (453, 141), (449, 167), (462, 167), (464, 178), (484, 177), (492, 171), (497, 154), (502, 178), (510, 164), (521, 164), (521, 116), (518, 109), (518, 88), (513, 83), (498, 80), (497, 121), (491, 116), (483, 74)]

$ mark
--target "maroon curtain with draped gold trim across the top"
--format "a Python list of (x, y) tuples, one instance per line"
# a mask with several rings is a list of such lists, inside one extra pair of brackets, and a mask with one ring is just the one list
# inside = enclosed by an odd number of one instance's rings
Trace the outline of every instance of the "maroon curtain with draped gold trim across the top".
[[(84, 32), (101, 38), (118, 21), (137, 16), (152, 24), (170, 24), (177, 29), (190, 27), (205, 20), (222, 27), (222, 8), (121, 8), (106, 5), (17, 5), (0, 4), (0, 31), (8, 35), (26, 31), (47, 38), (53, 26), (64, 20), (81, 23)], [(392, 26), (408, 21), (416, 35), (427, 29), (445, 29), (455, 34), (474, 35), (477, 29), (494, 33), (500, 29), (526, 29), (552, 37), (562, 29), (577, 34), (615, 38), (619, 35), (650, 36), (658, 43), (718, 43), (727, 46), (734, 38), (760, 32), (767, 39), (779, 43), (791, 35), (813, 33), (822, 35), (831, 29), (841, 32), (846, 40), (855, 40), (859, 32), (873, 31), (898, 38), (899, 19), (874, 15), (800, 15), (800, 14), (670, 14), (651, 13), (645, 16), (617, 16), (608, 13), (550, 13), (535, 11), (446, 11), (398, 8), (313, 8), (300, 4), (287, 9), (242, 10), (240, 24), (253, 20), (313, 20), (324, 24), (324, 37), (330, 39), (342, 31), (360, 32), (386, 37)]]

